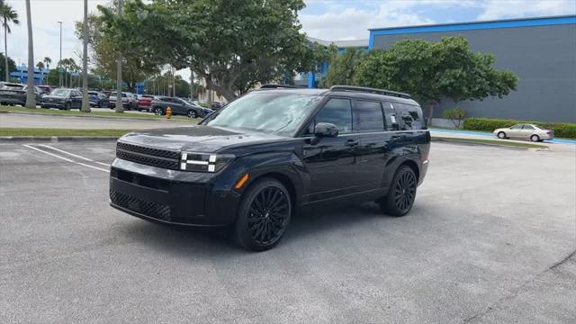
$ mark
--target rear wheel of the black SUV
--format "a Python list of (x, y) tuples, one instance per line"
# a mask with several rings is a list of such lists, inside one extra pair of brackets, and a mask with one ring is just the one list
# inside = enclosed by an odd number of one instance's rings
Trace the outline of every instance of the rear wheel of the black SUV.
[(401, 166), (396, 170), (388, 195), (379, 204), (380, 209), (389, 215), (400, 217), (410, 212), (416, 200), (418, 178), (410, 166)]

